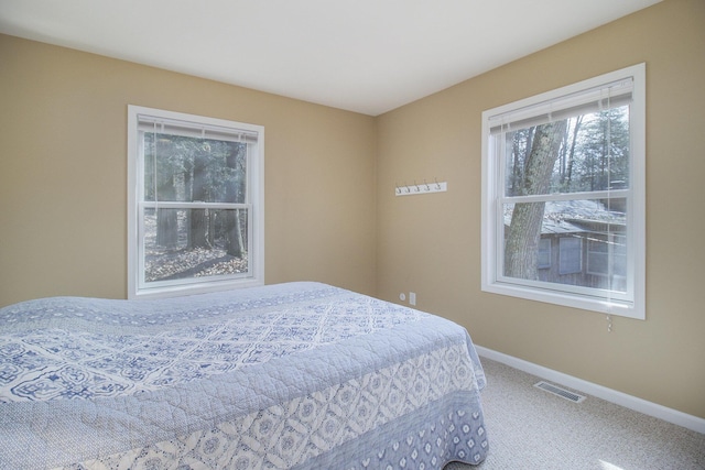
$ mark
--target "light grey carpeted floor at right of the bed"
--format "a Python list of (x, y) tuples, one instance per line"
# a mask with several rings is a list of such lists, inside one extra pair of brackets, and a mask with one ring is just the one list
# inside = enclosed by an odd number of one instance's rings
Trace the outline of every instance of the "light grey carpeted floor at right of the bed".
[(445, 470), (704, 470), (705, 435), (588, 396), (572, 403), (540, 379), (482, 358), (489, 456)]

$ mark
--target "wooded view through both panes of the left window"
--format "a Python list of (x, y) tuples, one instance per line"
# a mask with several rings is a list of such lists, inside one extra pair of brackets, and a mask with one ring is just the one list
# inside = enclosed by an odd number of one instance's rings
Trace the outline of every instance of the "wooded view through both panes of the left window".
[(245, 204), (247, 144), (144, 133), (148, 282), (248, 272), (247, 209), (159, 208), (159, 203)]

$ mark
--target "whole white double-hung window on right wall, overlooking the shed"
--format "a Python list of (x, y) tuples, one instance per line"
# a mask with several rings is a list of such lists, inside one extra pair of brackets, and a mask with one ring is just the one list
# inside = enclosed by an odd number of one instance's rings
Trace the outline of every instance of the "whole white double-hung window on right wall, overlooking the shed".
[(646, 318), (644, 90), (639, 64), (482, 112), (484, 291)]

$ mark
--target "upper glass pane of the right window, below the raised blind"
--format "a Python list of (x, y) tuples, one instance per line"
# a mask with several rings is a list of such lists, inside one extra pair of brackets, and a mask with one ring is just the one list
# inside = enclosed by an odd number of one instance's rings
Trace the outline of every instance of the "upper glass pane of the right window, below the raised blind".
[(629, 106), (512, 130), (503, 139), (506, 196), (628, 187)]

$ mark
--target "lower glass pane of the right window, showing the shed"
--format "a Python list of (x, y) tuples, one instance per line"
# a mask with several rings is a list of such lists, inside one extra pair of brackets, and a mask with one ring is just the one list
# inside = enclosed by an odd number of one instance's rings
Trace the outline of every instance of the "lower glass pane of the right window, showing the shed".
[(623, 198), (506, 204), (503, 275), (625, 292), (625, 205)]

